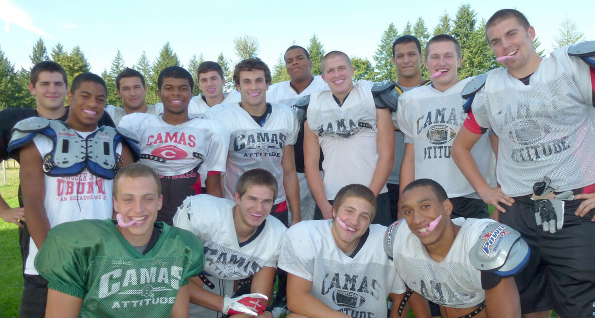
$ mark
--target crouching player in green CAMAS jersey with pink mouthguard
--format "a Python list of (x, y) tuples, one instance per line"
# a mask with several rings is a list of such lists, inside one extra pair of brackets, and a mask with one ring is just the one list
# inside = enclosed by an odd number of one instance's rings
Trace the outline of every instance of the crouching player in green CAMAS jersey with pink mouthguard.
[(48, 280), (46, 318), (188, 317), (188, 278), (202, 272), (194, 234), (155, 222), (161, 183), (130, 164), (114, 179), (118, 221), (82, 220), (48, 233), (35, 268)]

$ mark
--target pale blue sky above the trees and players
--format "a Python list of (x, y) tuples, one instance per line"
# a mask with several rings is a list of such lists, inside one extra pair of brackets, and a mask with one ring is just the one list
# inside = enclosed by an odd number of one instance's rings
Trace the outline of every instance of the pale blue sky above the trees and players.
[(247, 34), (260, 43), (259, 57), (273, 68), (295, 40), (308, 46), (316, 34), (324, 49), (343, 50), (372, 61), (390, 23), (399, 31), (422, 17), (428, 30), (447, 12), (452, 18), (469, 3), (478, 21), (501, 8), (527, 15), (541, 40), (552, 50), (560, 23), (574, 21), (587, 40), (595, 40), (595, 1), (16, 1), (0, 0), (0, 49), (19, 68), (29, 68), (33, 44), (42, 37), (48, 53), (60, 42), (66, 50), (79, 45), (91, 70), (101, 73), (118, 49), (128, 66), (145, 50), (154, 60), (169, 41), (186, 65), (193, 54), (216, 61), (223, 52), (233, 63), (233, 39)]

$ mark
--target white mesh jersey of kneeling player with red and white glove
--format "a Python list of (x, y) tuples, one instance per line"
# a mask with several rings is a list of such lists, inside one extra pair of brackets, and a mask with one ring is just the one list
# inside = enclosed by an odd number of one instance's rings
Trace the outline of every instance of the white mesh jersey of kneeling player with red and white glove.
[[(267, 266), (277, 268), (281, 238), (286, 227), (269, 215), (246, 242), (237, 241), (233, 221), (236, 202), (210, 195), (190, 196), (174, 216), (176, 227), (189, 230), (201, 238), (205, 246), (204, 274), (214, 283), (205, 290), (221, 296), (233, 294), (233, 281), (247, 278)], [(205, 217), (208, 215), (208, 217)], [(221, 313), (190, 304), (192, 317), (218, 317)]]

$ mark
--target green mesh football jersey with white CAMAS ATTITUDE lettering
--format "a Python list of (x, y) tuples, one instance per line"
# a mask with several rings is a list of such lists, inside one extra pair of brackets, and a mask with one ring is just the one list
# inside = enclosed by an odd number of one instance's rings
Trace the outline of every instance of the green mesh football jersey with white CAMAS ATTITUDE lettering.
[(161, 222), (145, 255), (112, 220), (66, 222), (49, 231), (35, 268), (48, 288), (83, 298), (79, 317), (169, 317), (180, 287), (202, 272), (202, 241)]

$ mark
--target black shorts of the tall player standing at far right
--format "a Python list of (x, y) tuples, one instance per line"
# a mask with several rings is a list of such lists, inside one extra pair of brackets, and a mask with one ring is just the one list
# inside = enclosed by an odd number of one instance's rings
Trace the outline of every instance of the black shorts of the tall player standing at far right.
[(502, 205), (500, 222), (531, 247), (527, 266), (515, 276), (522, 313), (554, 309), (562, 317), (595, 316), (595, 211), (577, 217), (581, 201), (566, 201), (564, 225), (552, 234), (537, 226), (534, 201), (514, 199), (512, 206)]

